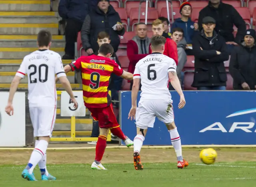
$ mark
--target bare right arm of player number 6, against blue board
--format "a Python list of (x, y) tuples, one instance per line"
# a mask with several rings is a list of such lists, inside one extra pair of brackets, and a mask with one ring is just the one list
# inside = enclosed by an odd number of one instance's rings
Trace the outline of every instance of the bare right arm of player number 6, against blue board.
[(172, 84), (172, 87), (178, 92), (180, 95), (180, 103), (178, 105), (179, 108), (183, 108), (186, 104), (184, 94), (182, 92), (181, 86), (180, 86), (180, 80), (177, 76), (177, 73), (175, 71), (169, 71), (168, 72), (170, 82)]

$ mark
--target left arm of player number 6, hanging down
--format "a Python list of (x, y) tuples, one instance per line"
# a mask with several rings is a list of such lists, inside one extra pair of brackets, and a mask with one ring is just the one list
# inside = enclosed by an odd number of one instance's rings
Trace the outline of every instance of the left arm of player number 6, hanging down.
[(137, 97), (138, 97), (138, 91), (140, 88), (140, 79), (136, 78), (133, 79), (133, 85), (132, 85), (132, 108), (129, 112), (128, 119), (131, 118), (135, 120), (135, 114), (137, 109)]

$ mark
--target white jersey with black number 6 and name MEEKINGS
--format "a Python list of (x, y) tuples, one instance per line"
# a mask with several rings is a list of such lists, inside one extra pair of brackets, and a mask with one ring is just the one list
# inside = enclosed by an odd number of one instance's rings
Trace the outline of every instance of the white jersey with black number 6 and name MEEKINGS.
[(169, 71), (176, 72), (176, 63), (174, 59), (161, 53), (152, 53), (138, 61), (133, 79), (141, 79), (140, 100), (171, 100), (172, 97), (167, 87)]

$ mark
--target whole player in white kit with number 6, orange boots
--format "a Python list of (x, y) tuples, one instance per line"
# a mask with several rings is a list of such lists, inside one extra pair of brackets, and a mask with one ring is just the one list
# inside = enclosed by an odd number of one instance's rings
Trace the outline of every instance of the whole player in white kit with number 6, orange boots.
[[(163, 55), (166, 38), (154, 35), (151, 38), (152, 54), (144, 57), (136, 64), (133, 75), (132, 108), (128, 118), (136, 119), (137, 136), (134, 138), (134, 167), (142, 170), (140, 149), (145, 140), (148, 127), (153, 127), (155, 118), (164, 122), (170, 132), (171, 142), (175, 149), (178, 168), (188, 166), (182, 157), (180, 136), (174, 124), (172, 97), (168, 90), (169, 79), (174, 89), (180, 95), (178, 108), (186, 104), (180, 81), (176, 74), (176, 63), (170, 57)], [(137, 96), (142, 84), (140, 101), (137, 108)], [(136, 114), (136, 115), (135, 115)]]

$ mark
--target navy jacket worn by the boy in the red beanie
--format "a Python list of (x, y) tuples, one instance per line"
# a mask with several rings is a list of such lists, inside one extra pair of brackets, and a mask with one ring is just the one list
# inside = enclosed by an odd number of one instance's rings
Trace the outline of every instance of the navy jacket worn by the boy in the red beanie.
[(187, 22), (182, 21), (181, 18), (176, 19), (172, 24), (171, 33), (174, 28), (182, 28), (184, 31), (184, 38), (186, 39), (187, 43), (192, 43), (192, 39), (196, 31), (194, 28), (194, 22), (192, 22), (190, 18), (188, 18)]

